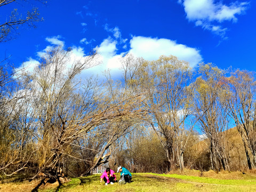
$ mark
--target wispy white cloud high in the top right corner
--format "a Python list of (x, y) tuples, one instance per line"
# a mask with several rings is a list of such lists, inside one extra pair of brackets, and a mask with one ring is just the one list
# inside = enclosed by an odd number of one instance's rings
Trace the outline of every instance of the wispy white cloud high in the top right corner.
[(179, 0), (178, 2), (183, 4), (189, 21), (222, 37), (225, 36), (227, 28), (220, 24), (223, 21), (236, 22), (236, 15), (243, 14), (249, 5), (249, 2), (224, 5), (214, 0)]

